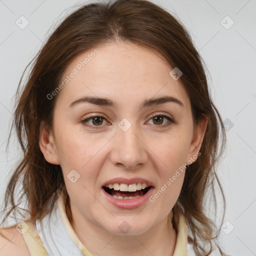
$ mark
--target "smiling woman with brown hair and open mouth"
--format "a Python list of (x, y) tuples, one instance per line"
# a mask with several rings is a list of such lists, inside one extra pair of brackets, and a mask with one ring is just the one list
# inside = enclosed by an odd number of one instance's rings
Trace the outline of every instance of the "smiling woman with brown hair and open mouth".
[(1, 230), (2, 255), (224, 255), (204, 203), (215, 182), (222, 192), (223, 123), (189, 34), (159, 6), (116, 0), (66, 17), (13, 124), (24, 157), (3, 221), (20, 180), (29, 217)]

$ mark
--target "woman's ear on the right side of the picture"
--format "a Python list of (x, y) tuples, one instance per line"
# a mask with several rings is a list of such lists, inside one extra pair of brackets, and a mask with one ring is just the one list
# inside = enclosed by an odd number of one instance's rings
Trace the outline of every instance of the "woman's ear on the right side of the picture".
[(204, 118), (201, 118), (193, 131), (193, 136), (187, 156), (189, 158), (187, 158), (186, 160), (188, 165), (193, 163), (197, 158), (197, 152), (199, 152), (201, 148), (202, 140), (208, 123), (208, 118), (208, 116), (204, 116)]

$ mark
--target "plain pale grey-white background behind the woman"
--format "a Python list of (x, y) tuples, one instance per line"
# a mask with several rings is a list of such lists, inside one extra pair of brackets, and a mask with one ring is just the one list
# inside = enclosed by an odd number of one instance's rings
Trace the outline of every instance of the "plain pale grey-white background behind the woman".
[[(220, 114), (233, 123), (218, 167), (226, 195), (225, 232), (220, 240), (232, 255), (256, 255), (256, 2), (255, 0), (154, 0), (178, 16), (209, 70), (211, 95)], [(5, 151), (13, 96), (28, 62), (75, 0), (0, 0), (0, 205), (20, 153), (14, 140)], [(29, 24), (20, 29), (21, 16)], [(226, 29), (232, 22), (234, 24)], [(223, 19), (224, 18), (224, 19)], [(211, 78), (211, 80), (210, 80)], [(14, 135), (12, 137), (15, 138)], [(0, 207), (1, 210), (1, 207)], [(227, 231), (226, 231), (227, 230)]]

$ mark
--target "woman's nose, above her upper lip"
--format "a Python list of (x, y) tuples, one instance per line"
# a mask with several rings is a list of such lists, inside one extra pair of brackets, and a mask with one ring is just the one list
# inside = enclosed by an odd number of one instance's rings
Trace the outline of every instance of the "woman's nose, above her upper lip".
[(110, 152), (110, 160), (114, 165), (123, 165), (126, 169), (134, 169), (147, 161), (147, 147), (143, 143), (141, 133), (134, 126), (131, 125), (126, 131), (117, 128)]

